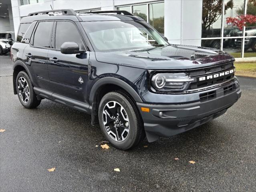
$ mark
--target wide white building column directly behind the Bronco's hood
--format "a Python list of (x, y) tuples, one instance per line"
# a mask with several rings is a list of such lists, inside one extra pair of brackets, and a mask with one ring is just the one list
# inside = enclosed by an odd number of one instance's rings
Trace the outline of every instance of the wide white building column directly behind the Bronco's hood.
[(172, 44), (201, 46), (203, 0), (165, 0), (165, 37)]

